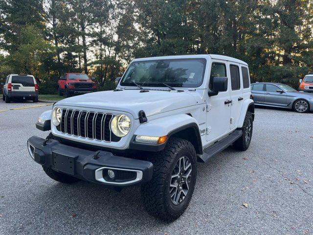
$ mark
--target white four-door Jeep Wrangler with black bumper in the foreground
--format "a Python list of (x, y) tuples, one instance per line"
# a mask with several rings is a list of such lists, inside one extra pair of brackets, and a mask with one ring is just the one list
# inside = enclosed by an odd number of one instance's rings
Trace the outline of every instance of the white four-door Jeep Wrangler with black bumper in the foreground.
[(62, 183), (141, 185), (147, 211), (178, 218), (197, 162), (249, 147), (254, 119), (248, 65), (221, 55), (135, 59), (114, 91), (58, 101), (28, 139), (33, 160)]

